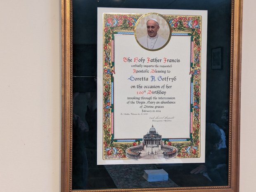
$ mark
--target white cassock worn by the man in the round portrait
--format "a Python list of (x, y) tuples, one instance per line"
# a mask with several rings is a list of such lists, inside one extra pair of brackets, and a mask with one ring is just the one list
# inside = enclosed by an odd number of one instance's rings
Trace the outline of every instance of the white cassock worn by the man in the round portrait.
[(139, 38), (138, 41), (140, 45), (142, 45), (143, 47), (147, 49), (152, 49), (152, 50), (163, 47), (164, 44), (167, 42), (166, 39), (162, 38), (158, 34), (155, 37), (149, 37), (148, 35), (143, 36)]

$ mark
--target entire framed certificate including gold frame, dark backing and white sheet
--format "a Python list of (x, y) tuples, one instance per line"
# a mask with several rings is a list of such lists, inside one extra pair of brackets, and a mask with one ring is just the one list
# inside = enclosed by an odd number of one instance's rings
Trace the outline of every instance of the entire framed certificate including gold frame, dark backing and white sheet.
[(62, 1), (63, 192), (238, 190), (240, 12)]

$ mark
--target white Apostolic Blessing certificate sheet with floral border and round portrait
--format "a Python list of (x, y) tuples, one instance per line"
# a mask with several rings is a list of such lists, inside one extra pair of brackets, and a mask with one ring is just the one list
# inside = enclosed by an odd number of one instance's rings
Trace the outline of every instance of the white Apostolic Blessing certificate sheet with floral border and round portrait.
[(204, 163), (207, 12), (97, 13), (97, 163)]

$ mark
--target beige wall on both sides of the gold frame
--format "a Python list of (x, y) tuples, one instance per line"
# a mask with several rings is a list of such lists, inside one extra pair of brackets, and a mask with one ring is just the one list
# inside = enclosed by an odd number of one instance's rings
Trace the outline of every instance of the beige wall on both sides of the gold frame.
[[(60, 2), (0, 2), (0, 191), (60, 191)], [(244, 0), (240, 191), (254, 192), (256, 1)]]

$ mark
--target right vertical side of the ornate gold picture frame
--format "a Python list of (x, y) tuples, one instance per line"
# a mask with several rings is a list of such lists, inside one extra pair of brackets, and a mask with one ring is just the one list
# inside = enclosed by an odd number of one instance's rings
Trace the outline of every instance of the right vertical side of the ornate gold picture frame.
[[(242, 61), (242, 5), (243, 0), (232, 1), (231, 56), (230, 56), (230, 187), (239, 192), (240, 102)], [(234, 8), (233, 8), (234, 7)], [(232, 80), (232, 81), (231, 81)], [(231, 133), (232, 132), (232, 133)]]

